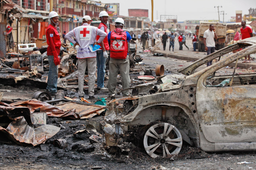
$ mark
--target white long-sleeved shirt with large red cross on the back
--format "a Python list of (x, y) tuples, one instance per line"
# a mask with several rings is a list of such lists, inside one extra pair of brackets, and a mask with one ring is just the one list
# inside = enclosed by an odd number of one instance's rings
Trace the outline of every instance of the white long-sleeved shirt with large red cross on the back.
[(68, 32), (65, 35), (65, 38), (75, 44), (76, 42), (71, 37), (75, 37), (77, 43), (80, 45), (77, 50), (76, 58), (89, 58), (96, 57), (96, 51), (91, 52), (89, 45), (92, 45), (96, 42), (96, 36), (100, 36), (98, 43), (101, 43), (107, 34), (98, 29), (95, 26), (91, 26), (88, 23), (84, 23), (81, 26), (74, 28), (72, 31)]

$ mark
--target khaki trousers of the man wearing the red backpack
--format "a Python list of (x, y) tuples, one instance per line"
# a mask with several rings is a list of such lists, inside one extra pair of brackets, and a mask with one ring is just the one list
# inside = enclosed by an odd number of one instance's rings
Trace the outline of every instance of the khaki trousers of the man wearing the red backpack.
[[(114, 59), (110, 58), (109, 60), (109, 77), (107, 82), (108, 93), (115, 93), (117, 87), (117, 75), (118, 71), (121, 75), (122, 87), (127, 89), (130, 87), (130, 63), (129, 56), (127, 55), (126, 59)], [(128, 96), (128, 90), (123, 91), (123, 96)]]

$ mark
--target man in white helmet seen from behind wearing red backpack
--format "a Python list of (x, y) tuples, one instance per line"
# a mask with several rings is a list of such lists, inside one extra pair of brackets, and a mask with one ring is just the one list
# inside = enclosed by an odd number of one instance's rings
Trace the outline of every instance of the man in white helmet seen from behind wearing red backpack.
[[(132, 39), (127, 31), (122, 30), (124, 20), (117, 18), (115, 20), (116, 29), (107, 35), (110, 49), (109, 59), (109, 77), (107, 82), (108, 93), (115, 93), (117, 86), (117, 75), (120, 72), (123, 89), (130, 87), (130, 64), (128, 54), (128, 42)], [(123, 91), (123, 97), (129, 95), (128, 90)]]

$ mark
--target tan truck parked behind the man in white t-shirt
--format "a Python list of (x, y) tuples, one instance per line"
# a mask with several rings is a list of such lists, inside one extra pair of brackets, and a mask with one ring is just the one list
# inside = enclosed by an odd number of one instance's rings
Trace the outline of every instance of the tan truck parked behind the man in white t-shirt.
[(204, 52), (203, 33), (209, 29), (210, 24), (214, 24), (218, 36), (218, 39), (215, 40), (215, 49), (220, 50), (225, 47), (227, 26), (218, 22), (200, 22), (200, 25), (196, 26), (197, 47), (199, 52)]

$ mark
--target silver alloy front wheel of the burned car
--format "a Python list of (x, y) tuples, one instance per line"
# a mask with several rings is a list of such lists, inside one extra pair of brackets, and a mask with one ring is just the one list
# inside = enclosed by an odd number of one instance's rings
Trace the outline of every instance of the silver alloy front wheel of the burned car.
[(180, 131), (169, 123), (159, 122), (145, 133), (143, 145), (152, 158), (177, 155), (182, 147)]

